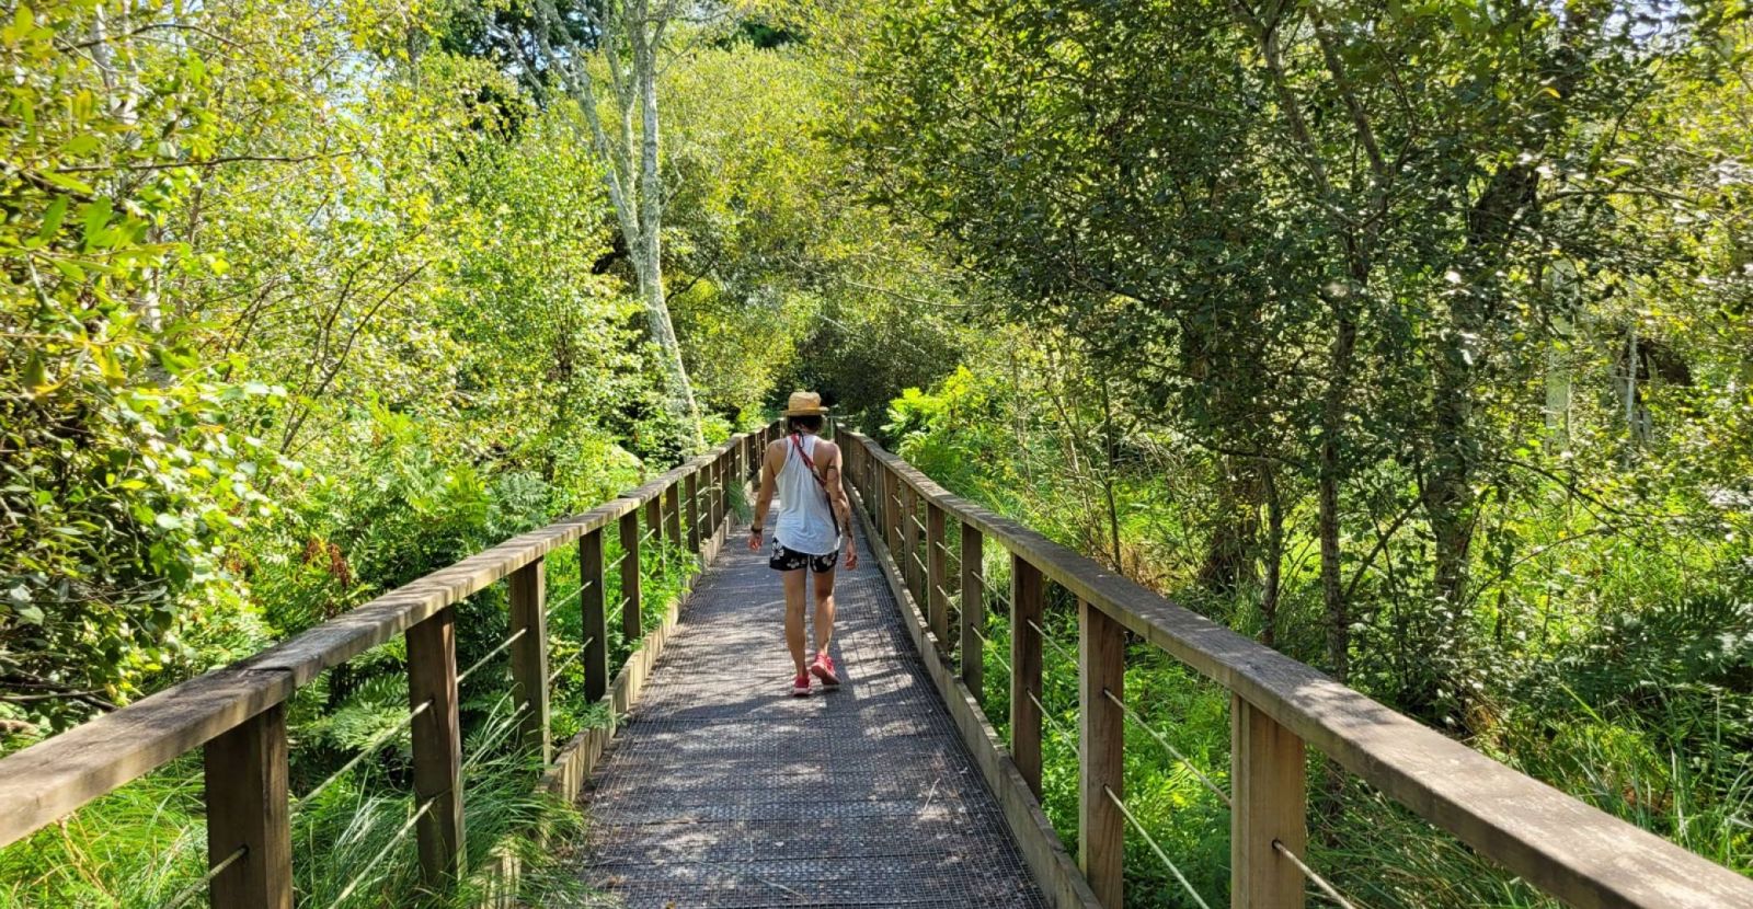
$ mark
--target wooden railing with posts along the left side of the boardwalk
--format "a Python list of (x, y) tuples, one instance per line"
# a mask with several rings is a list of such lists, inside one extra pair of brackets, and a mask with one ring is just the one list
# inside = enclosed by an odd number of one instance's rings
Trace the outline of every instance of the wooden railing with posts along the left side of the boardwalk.
[[(575, 781), (584, 772), (580, 764), (594, 758), (605, 736), (601, 730), (580, 732), (559, 758), (552, 753), (549, 692), (556, 676), (547, 652), (552, 611), (545, 595), (547, 553), (578, 545), (584, 697), (626, 709), (633, 694), (608, 678), (608, 615), (619, 606), (624, 638), (642, 638), (647, 604), (640, 594), (640, 543), (663, 534), (671, 546), (685, 545), (710, 560), (727, 527), (729, 489), (759, 468), (773, 433), (770, 426), (738, 434), (591, 511), (507, 539), (251, 659), (0, 760), (0, 848), (200, 748), (210, 905), (291, 907), (286, 701), (319, 673), (403, 634), (414, 748), (410, 825), (426, 884), (433, 890), (451, 886), (466, 870), (461, 867), (465, 792), (454, 606), (507, 580), (510, 634), (487, 657), (508, 653), (514, 713), (526, 748), (542, 755), (550, 781), (559, 779), (563, 786)], [(619, 534), (622, 557), (605, 566), (603, 534), (610, 529)], [(619, 604), (605, 602), (605, 569), (621, 573)], [(636, 669), (631, 664), (629, 659), (622, 676)], [(640, 673), (643, 667), (649, 660), (640, 664)]]

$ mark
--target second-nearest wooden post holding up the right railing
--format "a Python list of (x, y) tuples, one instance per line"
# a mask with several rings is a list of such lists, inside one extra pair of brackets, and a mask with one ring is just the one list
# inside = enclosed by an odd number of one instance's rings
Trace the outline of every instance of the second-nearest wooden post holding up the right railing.
[(1108, 799), (1125, 799), (1125, 627), (1078, 601), (1078, 867), (1096, 900), (1122, 905), (1125, 816)]

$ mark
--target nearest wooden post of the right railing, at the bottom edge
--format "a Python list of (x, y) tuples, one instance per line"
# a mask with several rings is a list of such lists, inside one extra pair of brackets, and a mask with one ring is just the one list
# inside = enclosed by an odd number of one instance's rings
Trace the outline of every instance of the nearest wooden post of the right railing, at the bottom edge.
[(1231, 697), (1229, 888), (1234, 909), (1301, 909), (1302, 874), (1273, 841), (1308, 855), (1302, 739), (1239, 694)]

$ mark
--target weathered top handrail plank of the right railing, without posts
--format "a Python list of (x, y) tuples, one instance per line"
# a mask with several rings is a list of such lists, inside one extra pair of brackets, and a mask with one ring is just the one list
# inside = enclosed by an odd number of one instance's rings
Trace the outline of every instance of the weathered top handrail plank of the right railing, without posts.
[(885, 471), (1022, 553), (1134, 634), (1541, 890), (1583, 907), (1753, 905), (1753, 881), (1530, 779), (1027, 527), (952, 496), (869, 440)]

